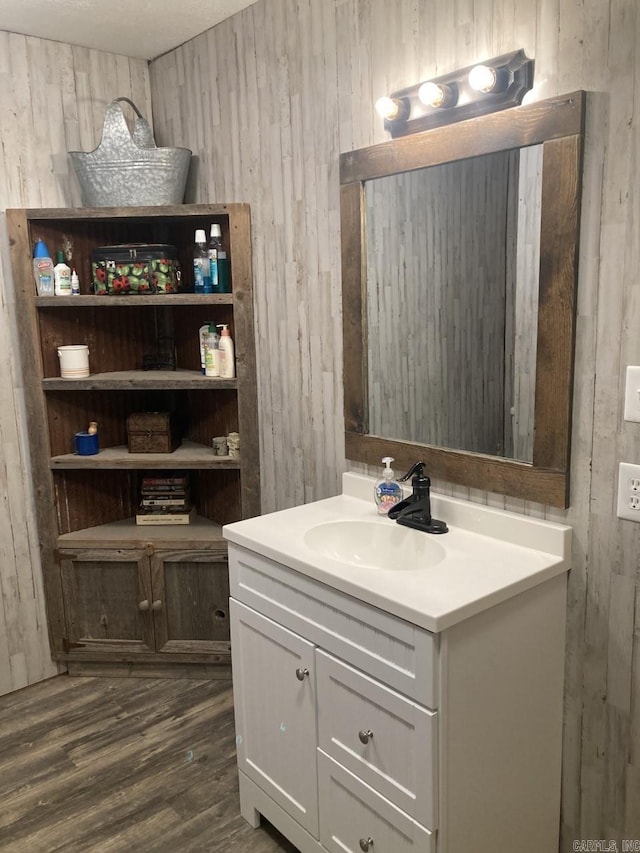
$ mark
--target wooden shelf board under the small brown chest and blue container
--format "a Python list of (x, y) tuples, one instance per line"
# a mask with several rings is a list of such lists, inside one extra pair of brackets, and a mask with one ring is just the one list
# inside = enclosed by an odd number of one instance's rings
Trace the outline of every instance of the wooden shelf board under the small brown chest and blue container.
[(240, 468), (240, 459), (230, 456), (215, 456), (212, 447), (183, 441), (173, 453), (129, 453), (126, 445), (105, 447), (95, 456), (78, 456), (77, 453), (65, 453), (53, 456), (50, 460), (53, 471), (69, 469), (215, 469)]

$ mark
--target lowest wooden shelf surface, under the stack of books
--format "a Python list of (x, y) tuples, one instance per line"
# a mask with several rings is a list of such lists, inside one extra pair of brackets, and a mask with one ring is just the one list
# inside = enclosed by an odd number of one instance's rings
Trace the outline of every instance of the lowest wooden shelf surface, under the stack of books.
[(191, 524), (136, 524), (133, 518), (87, 527), (58, 536), (58, 548), (225, 548), (222, 526), (199, 515)]

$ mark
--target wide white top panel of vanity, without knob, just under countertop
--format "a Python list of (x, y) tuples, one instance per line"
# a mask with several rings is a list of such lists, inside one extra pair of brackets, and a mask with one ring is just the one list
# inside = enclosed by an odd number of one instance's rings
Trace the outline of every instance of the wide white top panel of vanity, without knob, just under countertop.
[(437, 636), (229, 544), (233, 598), (406, 696), (437, 707)]

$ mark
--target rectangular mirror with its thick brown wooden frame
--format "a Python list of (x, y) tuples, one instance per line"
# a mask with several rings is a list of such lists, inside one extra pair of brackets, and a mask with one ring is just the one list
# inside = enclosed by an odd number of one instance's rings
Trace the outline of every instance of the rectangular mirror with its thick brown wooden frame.
[(568, 506), (584, 101), (341, 155), (348, 459)]

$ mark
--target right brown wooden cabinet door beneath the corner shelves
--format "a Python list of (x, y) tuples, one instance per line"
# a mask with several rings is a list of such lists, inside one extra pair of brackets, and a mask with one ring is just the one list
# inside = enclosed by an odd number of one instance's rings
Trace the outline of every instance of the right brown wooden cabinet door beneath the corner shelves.
[(150, 555), (151, 607), (160, 652), (229, 652), (226, 548)]

